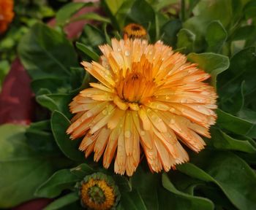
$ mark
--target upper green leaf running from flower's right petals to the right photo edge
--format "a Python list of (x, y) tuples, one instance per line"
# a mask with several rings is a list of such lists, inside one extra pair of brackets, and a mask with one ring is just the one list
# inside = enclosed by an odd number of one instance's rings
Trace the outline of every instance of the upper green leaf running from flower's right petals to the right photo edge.
[(224, 128), (227, 131), (231, 131), (239, 135), (256, 138), (255, 123), (235, 117), (232, 114), (223, 112), (221, 109), (217, 109), (217, 115), (217, 125), (219, 125), (220, 128)]

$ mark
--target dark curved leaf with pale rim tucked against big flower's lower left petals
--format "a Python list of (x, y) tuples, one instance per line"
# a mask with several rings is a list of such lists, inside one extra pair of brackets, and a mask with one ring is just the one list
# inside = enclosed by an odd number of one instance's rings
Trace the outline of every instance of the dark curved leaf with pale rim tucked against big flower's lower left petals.
[(70, 125), (67, 117), (59, 111), (54, 111), (50, 123), (55, 141), (64, 155), (75, 161), (85, 160), (83, 152), (80, 152), (78, 149), (80, 141), (69, 139), (69, 136), (66, 133), (67, 128)]

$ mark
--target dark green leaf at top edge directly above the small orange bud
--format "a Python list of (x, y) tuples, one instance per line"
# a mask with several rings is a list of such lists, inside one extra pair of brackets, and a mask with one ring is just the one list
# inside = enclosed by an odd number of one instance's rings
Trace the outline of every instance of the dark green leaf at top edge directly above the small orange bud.
[(128, 15), (135, 23), (154, 23), (155, 21), (154, 9), (145, 0), (135, 1)]

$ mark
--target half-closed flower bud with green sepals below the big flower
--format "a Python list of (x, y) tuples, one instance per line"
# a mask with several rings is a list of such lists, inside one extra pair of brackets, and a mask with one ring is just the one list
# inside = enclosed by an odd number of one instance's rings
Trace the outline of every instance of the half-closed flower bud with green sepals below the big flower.
[(110, 176), (95, 173), (78, 184), (81, 203), (88, 209), (114, 209), (120, 200), (118, 187)]

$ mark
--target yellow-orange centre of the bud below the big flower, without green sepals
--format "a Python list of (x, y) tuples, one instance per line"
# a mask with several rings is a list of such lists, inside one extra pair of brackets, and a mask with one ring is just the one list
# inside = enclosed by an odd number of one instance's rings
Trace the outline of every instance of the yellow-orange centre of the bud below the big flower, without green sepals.
[(83, 183), (80, 190), (82, 202), (89, 209), (107, 210), (115, 203), (113, 188), (105, 180), (90, 179)]

